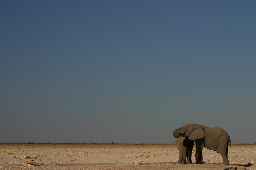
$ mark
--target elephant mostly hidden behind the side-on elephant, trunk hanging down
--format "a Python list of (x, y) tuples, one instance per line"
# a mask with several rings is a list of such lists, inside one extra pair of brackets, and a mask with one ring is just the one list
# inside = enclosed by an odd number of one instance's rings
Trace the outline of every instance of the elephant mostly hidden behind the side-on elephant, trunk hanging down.
[(191, 154), (192, 154), (192, 150), (193, 150), (193, 146), (194, 146), (194, 140), (189, 140), (186, 137), (178, 137), (175, 138), (175, 143), (176, 146), (179, 150), (179, 163), (187, 163), (187, 159), (188, 159), (188, 163), (192, 163), (191, 161)]

